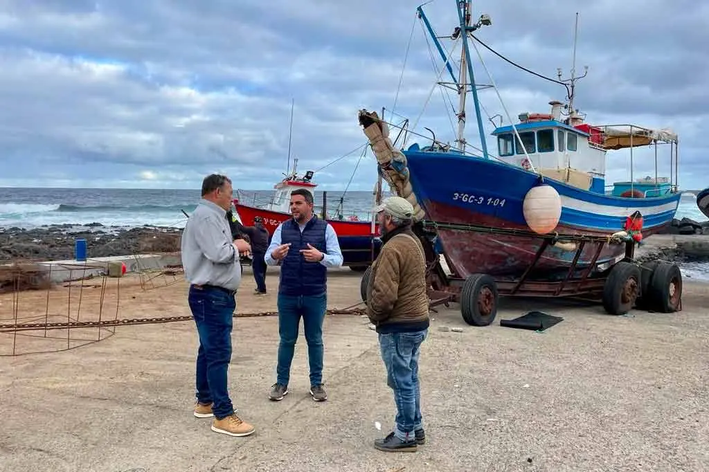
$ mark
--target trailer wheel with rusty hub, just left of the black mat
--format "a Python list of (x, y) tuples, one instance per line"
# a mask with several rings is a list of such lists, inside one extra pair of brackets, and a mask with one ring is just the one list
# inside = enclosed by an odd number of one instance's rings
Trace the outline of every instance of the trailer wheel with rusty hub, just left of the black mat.
[(460, 292), (463, 320), (473, 326), (487, 326), (497, 315), (498, 291), (495, 280), (487, 274), (471, 274)]

